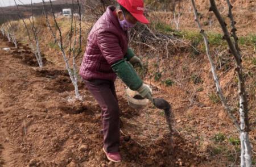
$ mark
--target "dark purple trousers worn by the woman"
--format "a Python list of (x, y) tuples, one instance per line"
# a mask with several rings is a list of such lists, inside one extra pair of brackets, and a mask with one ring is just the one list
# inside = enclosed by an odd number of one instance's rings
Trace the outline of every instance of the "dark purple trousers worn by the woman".
[(108, 153), (118, 152), (120, 135), (119, 106), (114, 82), (108, 80), (84, 80), (84, 82), (102, 110), (104, 149)]

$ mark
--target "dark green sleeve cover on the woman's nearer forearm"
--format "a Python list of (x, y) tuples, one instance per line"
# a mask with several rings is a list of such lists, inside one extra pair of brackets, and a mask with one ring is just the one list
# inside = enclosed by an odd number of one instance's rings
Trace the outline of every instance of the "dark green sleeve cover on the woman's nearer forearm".
[(117, 76), (131, 89), (137, 90), (142, 85), (142, 80), (135, 72), (134, 68), (125, 59), (112, 65)]

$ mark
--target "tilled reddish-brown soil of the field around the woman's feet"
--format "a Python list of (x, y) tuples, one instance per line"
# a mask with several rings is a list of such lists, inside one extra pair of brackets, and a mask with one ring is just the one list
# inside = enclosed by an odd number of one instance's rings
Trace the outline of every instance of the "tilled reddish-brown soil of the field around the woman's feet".
[[(11, 51), (2, 48), (10, 47)], [(176, 117), (172, 138), (163, 111), (127, 106), (117, 80), (123, 122), (123, 162), (109, 162), (102, 151), (101, 111), (86, 87), (84, 101), (72, 101), (67, 72), (47, 61), (44, 69), (27, 46), (0, 41), (0, 166), (227, 166), (212, 153), (216, 132), (235, 134), (220, 105), (191, 105), (179, 86), (154, 87), (154, 96), (172, 102)], [(221, 121), (220, 121), (221, 120)], [(237, 157), (236, 155), (233, 155)], [(235, 164), (237, 161), (234, 162)]]

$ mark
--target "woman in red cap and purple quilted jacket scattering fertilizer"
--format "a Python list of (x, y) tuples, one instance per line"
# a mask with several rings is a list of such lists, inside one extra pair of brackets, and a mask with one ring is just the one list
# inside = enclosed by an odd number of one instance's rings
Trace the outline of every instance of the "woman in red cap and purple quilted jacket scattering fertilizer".
[(127, 31), (138, 21), (149, 23), (143, 15), (143, 0), (117, 2), (118, 7), (109, 6), (90, 31), (80, 67), (80, 76), (101, 106), (103, 151), (113, 162), (122, 160), (119, 153), (119, 107), (115, 79), (118, 76), (131, 90), (137, 90), (142, 97), (152, 101), (150, 89), (131, 66), (137, 63), (142, 65), (142, 62), (128, 47)]

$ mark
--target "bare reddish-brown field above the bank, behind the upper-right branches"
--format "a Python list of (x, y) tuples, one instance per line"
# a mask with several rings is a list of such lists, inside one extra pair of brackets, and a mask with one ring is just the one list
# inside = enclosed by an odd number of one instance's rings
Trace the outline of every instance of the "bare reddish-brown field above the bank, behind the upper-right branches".
[[(194, 22), (193, 10), (191, 8), (190, 1), (180, 2), (180, 9), (178, 3), (176, 5), (176, 12), (180, 11), (180, 30), (192, 30), (197, 31), (197, 26)], [(203, 23), (204, 30), (213, 31), (213, 32), (221, 32), (221, 28), (218, 26), (218, 22), (216, 18), (214, 18), (213, 14), (209, 12), (209, 1), (195, 1), (197, 5), (197, 9), (200, 13), (200, 22)], [(229, 23), (227, 16), (227, 6), (224, 0), (216, 2), (218, 8), (221, 11), (221, 14), (226, 19), (226, 22)], [(232, 2), (234, 19), (237, 22), (238, 35), (247, 36), (249, 34), (255, 34), (255, 1), (242, 1), (236, 0)], [(155, 7), (155, 6), (154, 6)], [(168, 10), (167, 10), (168, 11)], [(161, 20), (162, 22), (170, 25), (172, 29), (175, 29), (176, 24), (174, 21), (174, 15), (172, 12), (163, 12), (163, 11), (154, 11), (150, 13), (150, 17), (152, 20)]]

